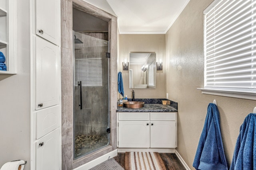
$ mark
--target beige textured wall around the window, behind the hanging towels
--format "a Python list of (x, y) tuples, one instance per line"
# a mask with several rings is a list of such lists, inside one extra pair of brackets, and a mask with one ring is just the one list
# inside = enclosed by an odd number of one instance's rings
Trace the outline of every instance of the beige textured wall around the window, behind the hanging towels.
[(216, 99), (218, 103), (229, 165), (240, 125), (256, 106), (254, 100), (201, 94), (196, 89), (204, 86), (203, 10), (212, 1), (190, 0), (166, 33), (166, 92), (178, 102), (177, 150), (191, 169), (210, 102)]

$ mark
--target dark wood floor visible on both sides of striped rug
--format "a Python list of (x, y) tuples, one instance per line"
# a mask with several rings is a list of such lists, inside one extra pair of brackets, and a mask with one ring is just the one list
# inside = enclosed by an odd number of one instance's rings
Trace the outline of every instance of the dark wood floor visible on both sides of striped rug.
[[(164, 162), (166, 170), (186, 170), (175, 153), (159, 154)], [(118, 153), (114, 159), (125, 169), (125, 153)]]

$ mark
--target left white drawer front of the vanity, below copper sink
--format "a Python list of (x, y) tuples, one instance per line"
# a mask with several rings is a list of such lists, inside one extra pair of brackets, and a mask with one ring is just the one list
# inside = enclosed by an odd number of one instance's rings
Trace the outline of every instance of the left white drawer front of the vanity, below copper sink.
[(149, 120), (150, 113), (136, 113), (136, 112), (126, 112), (126, 113), (119, 113), (118, 120)]

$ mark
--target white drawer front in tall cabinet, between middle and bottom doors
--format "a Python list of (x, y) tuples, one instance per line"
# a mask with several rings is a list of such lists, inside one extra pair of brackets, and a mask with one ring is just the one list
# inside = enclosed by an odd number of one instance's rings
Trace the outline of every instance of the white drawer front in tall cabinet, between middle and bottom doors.
[(60, 106), (47, 108), (36, 113), (36, 139), (60, 126)]

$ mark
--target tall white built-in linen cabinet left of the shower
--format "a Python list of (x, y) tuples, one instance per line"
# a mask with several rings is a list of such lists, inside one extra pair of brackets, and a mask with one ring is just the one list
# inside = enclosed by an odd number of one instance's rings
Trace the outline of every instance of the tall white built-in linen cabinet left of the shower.
[[(30, 0), (31, 161), (61, 169), (60, 0)], [(40, 32), (39, 32), (40, 31)]]

